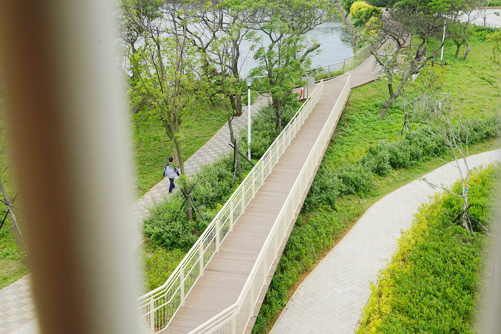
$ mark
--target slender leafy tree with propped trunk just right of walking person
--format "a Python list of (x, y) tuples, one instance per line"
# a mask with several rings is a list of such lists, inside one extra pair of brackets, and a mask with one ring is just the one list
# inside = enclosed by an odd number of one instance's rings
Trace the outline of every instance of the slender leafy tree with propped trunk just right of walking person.
[[(184, 174), (184, 159), (182, 155), (182, 133), (179, 126), (186, 110), (199, 108), (205, 100), (202, 97), (205, 89), (203, 81), (197, 80), (194, 68), (199, 67), (196, 52), (189, 46), (186, 38), (186, 25), (175, 24), (172, 20), (177, 16), (178, 8), (175, 4), (164, 8), (165, 15), (170, 20), (163, 18), (145, 22), (134, 19), (130, 8), (124, 7), (129, 19), (141, 31), (142, 45), (135, 53), (129, 54), (130, 63), (137, 72), (137, 80), (131, 82), (132, 94), (136, 99), (147, 97), (148, 112), (164, 127), (169, 139), (173, 143), (172, 152), (179, 163), (181, 174)], [(172, 26), (166, 23), (173, 22)], [(134, 98), (133, 98), (134, 100)], [(137, 101), (133, 101), (137, 102)], [(188, 194), (186, 180), (182, 181), (184, 192)], [(193, 220), (191, 200), (187, 198), (188, 219)]]

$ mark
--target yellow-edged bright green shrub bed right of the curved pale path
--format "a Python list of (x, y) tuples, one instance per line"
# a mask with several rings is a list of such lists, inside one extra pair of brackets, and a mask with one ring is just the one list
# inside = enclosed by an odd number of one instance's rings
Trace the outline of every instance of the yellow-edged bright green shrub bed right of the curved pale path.
[[(494, 227), (500, 177), (497, 164), (470, 180), (470, 214), (489, 228)], [(457, 182), (453, 189), (460, 187)], [(358, 333), (474, 332), (485, 234), (478, 225), (471, 235), (452, 223), (462, 211), (460, 201), (444, 192), (420, 208), (378, 284), (371, 284)]]

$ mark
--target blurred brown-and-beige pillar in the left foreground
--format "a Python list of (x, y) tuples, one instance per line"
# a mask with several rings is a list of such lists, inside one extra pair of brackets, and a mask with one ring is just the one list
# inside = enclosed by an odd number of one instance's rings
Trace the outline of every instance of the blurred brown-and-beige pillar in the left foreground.
[(0, 0), (11, 148), (44, 333), (138, 333), (112, 0)]

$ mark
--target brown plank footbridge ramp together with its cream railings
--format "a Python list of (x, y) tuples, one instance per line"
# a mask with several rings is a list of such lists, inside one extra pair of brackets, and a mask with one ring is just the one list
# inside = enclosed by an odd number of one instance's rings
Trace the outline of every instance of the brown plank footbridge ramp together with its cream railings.
[[(238, 213), (231, 232), (221, 241), (217, 236), (214, 238), (218, 242), (218, 251), (213, 252), (208, 260), (200, 260), (202, 269), (199, 271), (180, 269), (179, 275), (182, 277), (179, 279), (186, 279), (186, 275), (196, 276), (194, 283), (189, 286), (181, 283), (170, 296), (162, 297), (165, 299), (158, 298), (158, 302), (153, 302), (156, 297), (154, 293), (151, 294), (150, 311), (143, 310), (144, 314), (147, 313), (144, 321), (149, 332), (250, 332), (351, 87), (373, 81), (374, 74), (371, 74), (371, 70), (372, 60), (369, 59), (351, 75), (346, 74), (320, 84), (323, 85), (323, 94), (319, 94), (316, 106), (254, 197), (249, 199), (244, 211)], [(310, 166), (309, 169), (306, 166)], [(303, 174), (304, 181), (300, 182), (300, 176)], [(292, 197), (295, 198), (294, 201)], [(284, 213), (286, 211), (290, 213)], [(267, 260), (266, 268), (263, 266), (261, 269), (259, 263), (265, 261), (263, 258), (267, 256), (263, 255), (264, 248), (271, 244), (270, 236), (275, 233), (276, 221), (279, 219), (286, 221), (285, 227), (282, 227), (282, 236), (278, 241), (274, 241), (274, 254), (271, 260)], [(207, 243), (203, 247), (202, 245), (200, 249), (208, 247)], [(193, 252), (197, 252), (196, 249)], [(203, 259), (203, 256), (201, 258)], [(252, 283), (249, 281), (254, 281), (254, 278), (249, 277), (254, 277), (257, 270), (263, 271), (264, 282), (252, 290), (253, 288), (249, 287)], [(179, 297), (179, 290), (182, 290), (182, 297)], [(189, 290), (189, 293), (184, 295), (184, 290)], [(242, 297), (242, 291), (247, 291), (245, 297)], [(167, 304), (167, 299), (169, 302), (181, 299), (182, 306), (176, 308), (170, 318), (163, 320), (163, 325), (158, 324), (158, 309)], [(249, 302), (247, 299), (253, 301)], [(147, 306), (147, 302), (145, 299), (144, 305)], [(238, 303), (240, 306), (235, 306)], [(242, 311), (245, 307), (246, 310)], [(151, 310), (156, 310), (157, 313)], [(168, 326), (165, 327), (167, 323)], [(162, 327), (165, 328), (160, 330)]]

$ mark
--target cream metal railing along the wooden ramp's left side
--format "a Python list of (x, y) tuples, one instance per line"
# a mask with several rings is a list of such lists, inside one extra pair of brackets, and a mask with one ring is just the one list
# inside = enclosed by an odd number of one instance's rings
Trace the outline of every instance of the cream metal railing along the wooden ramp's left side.
[(234, 222), (244, 212), (247, 204), (310, 115), (322, 96), (323, 88), (323, 82), (317, 85), (311, 97), (301, 106), (256, 166), (236, 188), (167, 281), (138, 299), (142, 321), (150, 332), (165, 328), (179, 307), (184, 304), (184, 298), (198, 278), (203, 276), (205, 266), (219, 251), (219, 245), (233, 229)]

